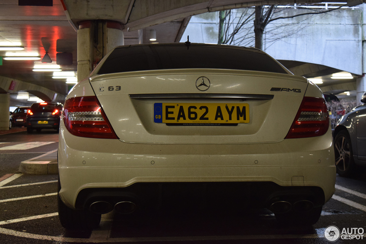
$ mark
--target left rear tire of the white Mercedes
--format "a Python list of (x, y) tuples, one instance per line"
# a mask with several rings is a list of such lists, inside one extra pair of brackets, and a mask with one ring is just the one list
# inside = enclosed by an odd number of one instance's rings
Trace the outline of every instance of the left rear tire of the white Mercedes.
[[(57, 192), (61, 189), (60, 179)], [(57, 195), (59, 219), (63, 228), (68, 230), (93, 230), (100, 224), (101, 214), (95, 214), (87, 209), (74, 210), (67, 207)]]

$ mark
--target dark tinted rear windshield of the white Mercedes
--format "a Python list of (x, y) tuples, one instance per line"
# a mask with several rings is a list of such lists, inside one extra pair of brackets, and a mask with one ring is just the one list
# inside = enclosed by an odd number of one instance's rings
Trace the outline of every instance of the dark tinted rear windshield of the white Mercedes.
[(256, 50), (213, 45), (191, 45), (187, 48), (184, 44), (116, 48), (102, 64), (98, 74), (186, 68), (251, 70), (287, 74), (275, 60)]

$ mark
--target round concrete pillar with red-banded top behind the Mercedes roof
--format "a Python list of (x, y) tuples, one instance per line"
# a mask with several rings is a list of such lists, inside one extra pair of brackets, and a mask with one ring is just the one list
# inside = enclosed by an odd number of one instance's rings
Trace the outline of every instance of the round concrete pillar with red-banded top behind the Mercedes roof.
[(89, 76), (100, 60), (124, 45), (123, 25), (111, 20), (85, 20), (78, 30), (78, 81)]

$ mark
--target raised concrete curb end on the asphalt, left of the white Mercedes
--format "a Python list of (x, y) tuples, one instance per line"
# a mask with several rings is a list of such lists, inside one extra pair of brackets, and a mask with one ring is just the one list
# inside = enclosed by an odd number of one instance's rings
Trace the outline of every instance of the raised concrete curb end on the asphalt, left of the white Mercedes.
[(22, 161), (19, 171), (27, 174), (58, 174), (57, 149)]

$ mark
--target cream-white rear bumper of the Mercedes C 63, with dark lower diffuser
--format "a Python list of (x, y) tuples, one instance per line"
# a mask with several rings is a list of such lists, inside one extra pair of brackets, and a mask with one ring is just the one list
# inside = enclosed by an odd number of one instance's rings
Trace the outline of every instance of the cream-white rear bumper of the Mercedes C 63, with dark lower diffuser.
[(72, 208), (111, 196), (159, 206), (177, 192), (260, 207), (306, 195), (320, 206), (335, 191), (331, 133), (276, 143), (144, 144), (81, 138), (61, 125), (59, 195)]

